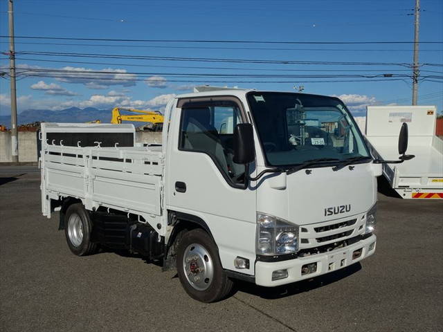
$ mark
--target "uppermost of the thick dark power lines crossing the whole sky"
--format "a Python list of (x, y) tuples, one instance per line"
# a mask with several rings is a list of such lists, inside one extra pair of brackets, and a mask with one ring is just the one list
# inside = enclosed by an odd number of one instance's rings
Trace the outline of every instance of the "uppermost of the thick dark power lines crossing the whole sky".
[[(8, 36), (0, 35), (0, 38)], [(167, 42), (167, 43), (232, 43), (232, 44), (413, 44), (413, 42), (293, 42), (293, 41), (262, 41), (262, 40), (220, 40), (220, 39), (116, 39), (116, 38), (86, 38), (86, 37), (42, 37), (16, 36), (20, 39), (57, 39), (57, 40), (89, 40), (105, 42)], [(420, 42), (420, 44), (443, 44), (443, 42)]]

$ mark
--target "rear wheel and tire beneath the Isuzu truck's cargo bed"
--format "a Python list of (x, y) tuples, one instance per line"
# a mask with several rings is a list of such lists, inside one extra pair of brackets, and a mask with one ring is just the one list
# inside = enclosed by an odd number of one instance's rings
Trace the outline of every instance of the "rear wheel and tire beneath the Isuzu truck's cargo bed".
[(64, 234), (69, 249), (77, 256), (96, 253), (98, 243), (91, 242), (92, 222), (82, 203), (69, 205), (64, 217)]

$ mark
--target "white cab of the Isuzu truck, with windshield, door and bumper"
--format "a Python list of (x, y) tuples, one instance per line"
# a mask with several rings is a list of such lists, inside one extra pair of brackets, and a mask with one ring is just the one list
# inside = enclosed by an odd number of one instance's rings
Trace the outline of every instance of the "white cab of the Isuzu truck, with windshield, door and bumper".
[[(372, 255), (381, 166), (338, 98), (210, 91), (169, 106), (166, 208), (208, 225), (224, 269), (277, 286)], [(255, 159), (239, 165), (234, 132), (244, 123)]]

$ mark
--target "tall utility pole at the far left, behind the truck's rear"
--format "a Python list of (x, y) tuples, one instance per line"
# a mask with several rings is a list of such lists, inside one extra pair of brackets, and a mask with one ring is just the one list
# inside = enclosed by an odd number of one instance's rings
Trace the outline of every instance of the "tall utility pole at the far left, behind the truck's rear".
[(11, 155), (12, 162), (19, 161), (19, 140), (17, 136), (17, 91), (15, 89), (15, 47), (14, 47), (14, 6), (8, 0), (9, 17), (9, 66), (11, 77)]

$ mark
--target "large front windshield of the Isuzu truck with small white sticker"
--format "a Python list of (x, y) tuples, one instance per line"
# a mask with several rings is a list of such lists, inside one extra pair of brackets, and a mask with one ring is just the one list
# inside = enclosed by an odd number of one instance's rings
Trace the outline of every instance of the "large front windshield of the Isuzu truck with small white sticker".
[(370, 157), (350, 113), (336, 98), (254, 91), (248, 103), (271, 166)]

